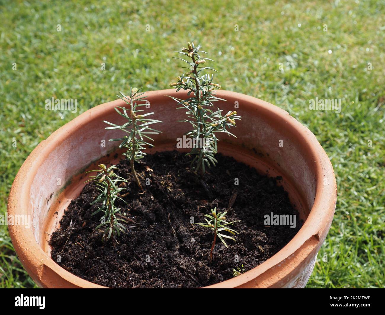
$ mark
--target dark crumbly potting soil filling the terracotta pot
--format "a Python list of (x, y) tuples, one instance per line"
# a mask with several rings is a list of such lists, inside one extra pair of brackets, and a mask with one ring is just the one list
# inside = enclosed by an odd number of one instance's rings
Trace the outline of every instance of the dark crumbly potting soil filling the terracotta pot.
[[(117, 173), (129, 181), (122, 192), (128, 193), (123, 197), (128, 206), (119, 202), (118, 207), (136, 224), (124, 223), (127, 232), (115, 237), (115, 246), (102, 242), (104, 229), (95, 230), (101, 213), (91, 216), (97, 205), (90, 206), (98, 192), (90, 183), (52, 234), (52, 258), (74, 275), (112, 288), (197, 288), (232, 278), (233, 268), (243, 265), (248, 271), (263, 263), (298, 232), (298, 212), (276, 185), (279, 177), (260, 175), (231, 157), (216, 158), (218, 165), (205, 175), (208, 189), (189, 168), (190, 157), (177, 151), (147, 155), (137, 163), (143, 191), (132, 180), (130, 163), (122, 161)], [(205, 222), (211, 208), (223, 212), (229, 204), (226, 218), (241, 220), (232, 227), (239, 234), (236, 242), (227, 240), (228, 248), (217, 238), (209, 265), (213, 231), (191, 220)], [(265, 226), (264, 215), (271, 212), (295, 214), (296, 228)]]

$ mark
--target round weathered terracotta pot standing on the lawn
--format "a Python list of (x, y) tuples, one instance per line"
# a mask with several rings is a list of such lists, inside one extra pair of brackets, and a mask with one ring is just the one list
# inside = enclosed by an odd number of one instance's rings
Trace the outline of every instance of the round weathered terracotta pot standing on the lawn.
[[(164, 122), (157, 125), (163, 133), (154, 139), (155, 150), (172, 150), (189, 124), (177, 122), (184, 111), (175, 110), (175, 102), (165, 95), (182, 98), (186, 93), (171, 89), (146, 94), (151, 111)], [(266, 262), (210, 287), (304, 287), (336, 205), (336, 182), (329, 158), (310, 130), (284, 110), (239, 93), (219, 91), (218, 96), (228, 101), (218, 104), (225, 111), (234, 110), (238, 102), (237, 111), (242, 116), (242, 121), (233, 129), (238, 140), (221, 135), (219, 152), (268, 175), (281, 175), (282, 185), (304, 224), (295, 237)], [(30, 228), (10, 225), (10, 236), (20, 261), (40, 287), (101, 287), (72, 275), (54, 262), (47, 240), (57, 228), (65, 208), (84, 187), (81, 179), (84, 172), (96, 163), (116, 162), (106, 155), (114, 155), (116, 142), (108, 139), (119, 135), (119, 130), (105, 130), (102, 120), (119, 120), (114, 110), (117, 105), (123, 102), (115, 100), (94, 107), (52, 133), (32, 151), (13, 182), (8, 216), (30, 215), (32, 224)], [(105, 147), (101, 145), (102, 140)]]

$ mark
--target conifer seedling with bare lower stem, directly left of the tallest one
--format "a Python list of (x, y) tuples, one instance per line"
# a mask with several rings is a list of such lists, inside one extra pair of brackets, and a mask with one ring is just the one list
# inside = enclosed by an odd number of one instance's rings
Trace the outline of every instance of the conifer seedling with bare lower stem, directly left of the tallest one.
[[(140, 160), (141, 158), (144, 157), (144, 155), (146, 155), (146, 153), (143, 152), (146, 145), (149, 145), (150, 147), (154, 147), (154, 145), (147, 142), (148, 140), (154, 141), (148, 135), (158, 134), (160, 133), (160, 131), (150, 128), (149, 125), (152, 125), (158, 122), (161, 123), (161, 121), (145, 118), (152, 115), (153, 113), (138, 115), (138, 113), (143, 112), (143, 110), (139, 110), (137, 108), (141, 106), (145, 106), (146, 103), (138, 104), (137, 102), (147, 101), (145, 99), (146, 97), (144, 96), (144, 93), (140, 93), (139, 91), (140, 89), (138, 90), (137, 88), (130, 88), (129, 95), (124, 95), (122, 92), (120, 92), (121, 96), (117, 95), (119, 98), (124, 100), (128, 105), (130, 105), (128, 109), (126, 107), (120, 107), (120, 106), (115, 107), (116, 112), (127, 119), (126, 123), (124, 123), (123, 125), (116, 125), (114, 123), (106, 122), (105, 120), (104, 122), (113, 126), (113, 127), (106, 127), (105, 129), (121, 129), (122, 131), (129, 134), (128, 136), (126, 135), (123, 138), (110, 139), (110, 141), (121, 141), (119, 148), (122, 148), (122, 147), (127, 148), (127, 151), (123, 154), (127, 157), (128, 160), (130, 160), (132, 177), (134, 177), (134, 180), (137, 186), (140, 189), (142, 189), (142, 184), (135, 171), (134, 162), (137, 160)], [(121, 109), (122, 112), (118, 108)]]

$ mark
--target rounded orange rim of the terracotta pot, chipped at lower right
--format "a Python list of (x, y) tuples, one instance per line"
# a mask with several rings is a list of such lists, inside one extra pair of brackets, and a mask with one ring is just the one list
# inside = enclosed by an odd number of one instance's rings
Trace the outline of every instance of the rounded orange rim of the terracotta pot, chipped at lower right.
[[(146, 95), (147, 97), (178, 96), (181, 95), (181, 92), (176, 92), (175, 89), (166, 89), (148, 91)], [(278, 116), (286, 124), (285, 128), (291, 128), (298, 133), (304, 149), (315, 163), (315, 200), (308, 218), (298, 233), (279, 252), (257, 267), (238, 277), (205, 288), (271, 287), (277, 285), (283, 278), (290, 280), (293, 270), (303, 266), (306, 257), (315, 251), (318, 252), (322, 245), (331, 225), (336, 205), (337, 186), (333, 167), (315, 135), (285, 110), (258, 98), (237, 92), (219, 90), (217, 95), (224, 99), (229, 96), (236, 97), (239, 103), (242, 101), (242, 106), (246, 110), (257, 105), (264, 114)], [(33, 178), (49, 152), (64, 138), (84, 125), (90, 116), (102, 117), (104, 112), (108, 112), (111, 107), (122, 105), (122, 103), (123, 101), (118, 99), (90, 108), (57, 129), (46, 140), (40, 142), (30, 153), (15, 177), (8, 198), (8, 215), (28, 214), (28, 196)], [(324, 185), (325, 178), (326, 182), (329, 183), (328, 185)], [(55, 278), (55, 286), (58, 287), (105, 288), (77, 277), (55, 263), (36, 242), (32, 228), (26, 229), (22, 225), (10, 225), (8, 230), (20, 261), (39, 286), (50, 287), (53, 284), (52, 278)], [(308, 264), (309, 261), (306, 263)], [(58, 283), (59, 279), (61, 283)]]

